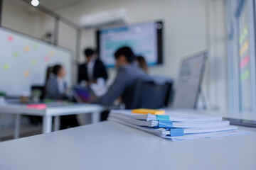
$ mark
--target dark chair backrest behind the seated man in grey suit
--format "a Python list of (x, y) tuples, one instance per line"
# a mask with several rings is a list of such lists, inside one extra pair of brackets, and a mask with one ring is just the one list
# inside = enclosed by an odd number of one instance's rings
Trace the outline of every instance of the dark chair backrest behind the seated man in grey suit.
[(133, 100), (127, 109), (162, 108), (169, 105), (174, 81), (166, 77), (145, 77), (137, 79)]

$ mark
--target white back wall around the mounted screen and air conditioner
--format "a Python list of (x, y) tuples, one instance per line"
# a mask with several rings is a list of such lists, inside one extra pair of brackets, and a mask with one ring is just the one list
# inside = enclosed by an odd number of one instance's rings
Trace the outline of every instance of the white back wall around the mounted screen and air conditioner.
[[(122, 7), (129, 12), (129, 23), (164, 21), (164, 64), (151, 67), (151, 74), (176, 78), (182, 57), (208, 49), (210, 56), (203, 81), (208, 106), (223, 111), (228, 108), (225, 0), (87, 0), (55, 11), (79, 23), (83, 15)], [(95, 44), (95, 30), (84, 30), (82, 48)], [(111, 80), (114, 73), (110, 70)]]

